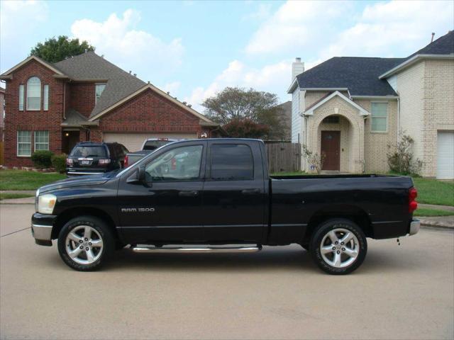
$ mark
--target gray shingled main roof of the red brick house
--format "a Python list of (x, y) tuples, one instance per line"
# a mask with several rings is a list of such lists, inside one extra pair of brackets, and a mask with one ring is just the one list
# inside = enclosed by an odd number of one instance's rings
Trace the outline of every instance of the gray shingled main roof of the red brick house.
[(72, 79), (106, 79), (107, 84), (90, 115), (114, 105), (145, 86), (145, 82), (108, 62), (94, 52), (86, 52), (53, 64)]

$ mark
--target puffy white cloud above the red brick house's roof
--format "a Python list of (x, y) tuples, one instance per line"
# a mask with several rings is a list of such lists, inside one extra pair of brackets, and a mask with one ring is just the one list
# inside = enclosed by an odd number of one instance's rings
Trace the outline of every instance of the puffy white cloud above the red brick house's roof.
[(163, 42), (151, 33), (136, 30), (139, 22), (140, 12), (128, 9), (121, 17), (112, 13), (104, 22), (74, 21), (71, 33), (75, 38), (87, 40), (98, 54), (106, 55), (106, 59), (120, 67), (133, 72), (148, 70), (150, 74), (138, 74), (138, 77), (153, 82), (144, 77), (175, 71), (182, 64), (184, 47), (180, 38)]

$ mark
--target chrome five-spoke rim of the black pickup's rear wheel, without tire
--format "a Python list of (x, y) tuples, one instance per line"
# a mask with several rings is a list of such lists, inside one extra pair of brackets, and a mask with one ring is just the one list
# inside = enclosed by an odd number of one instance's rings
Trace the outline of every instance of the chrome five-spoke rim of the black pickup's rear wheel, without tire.
[(350, 230), (336, 228), (321, 240), (320, 253), (328, 265), (344, 268), (355, 262), (360, 253), (360, 242)]

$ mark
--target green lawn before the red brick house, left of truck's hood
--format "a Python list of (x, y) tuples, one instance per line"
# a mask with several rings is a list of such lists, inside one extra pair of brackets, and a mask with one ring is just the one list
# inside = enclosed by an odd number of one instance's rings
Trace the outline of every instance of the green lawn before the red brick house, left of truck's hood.
[(65, 179), (64, 174), (23, 170), (0, 170), (0, 190), (36, 190), (40, 186)]

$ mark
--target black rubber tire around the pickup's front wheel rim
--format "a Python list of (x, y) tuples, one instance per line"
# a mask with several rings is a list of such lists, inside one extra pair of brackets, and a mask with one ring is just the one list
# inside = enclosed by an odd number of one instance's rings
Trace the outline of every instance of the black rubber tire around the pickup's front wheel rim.
[[(77, 227), (81, 226), (89, 226), (92, 227), (96, 232), (96, 238), (99, 241), (101, 239), (102, 242), (102, 247), (99, 253), (96, 254), (98, 258), (96, 261), (88, 264), (84, 263), (78, 263), (77, 261), (74, 261), (70, 255), (68, 254), (67, 251), (67, 236), (72, 232), (72, 230), (77, 229)], [(99, 235), (99, 237), (98, 237)], [(58, 252), (60, 254), (60, 257), (62, 258), (63, 262), (67, 264), (67, 266), (70, 266), (71, 268), (75, 269), (76, 271), (96, 271), (97, 269), (101, 268), (101, 266), (106, 263), (107, 260), (109, 260), (109, 257), (111, 254), (114, 252), (115, 249), (115, 238), (114, 235), (111, 232), (111, 229), (109, 228), (108, 225), (106, 225), (105, 222), (100, 220), (97, 217), (93, 216), (81, 216), (81, 217), (75, 217), (69, 222), (66, 223), (60, 230), (60, 233), (58, 234)], [(82, 244), (81, 244), (82, 246)], [(88, 246), (88, 244), (87, 244)], [(91, 248), (92, 244), (90, 244)], [(82, 253), (84, 249), (82, 249), (80, 252)], [(92, 251), (90, 249), (90, 251)], [(96, 248), (93, 246), (93, 251), (96, 251)], [(93, 254), (93, 253), (92, 253)], [(95, 256), (95, 257), (96, 257)], [(87, 258), (88, 260), (88, 258)], [(79, 260), (80, 261), (80, 260)]]

